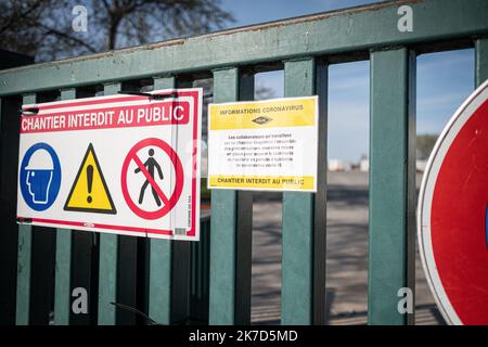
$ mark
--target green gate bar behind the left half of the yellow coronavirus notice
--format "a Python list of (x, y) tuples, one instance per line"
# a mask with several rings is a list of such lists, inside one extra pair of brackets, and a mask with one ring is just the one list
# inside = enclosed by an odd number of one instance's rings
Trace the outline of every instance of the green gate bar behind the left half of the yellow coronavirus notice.
[[(240, 93), (244, 92), (240, 91), (243, 87), (240, 75), (235, 67), (214, 70), (214, 102), (240, 99)], [(251, 267), (243, 268), (247, 261), (239, 264), (239, 257), (243, 254), (237, 248), (241, 247), (239, 242), (251, 237), (252, 209), (249, 194), (227, 190), (211, 192), (210, 324), (249, 323), (251, 306), (246, 296), (251, 293), (243, 288), (247, 287)]]

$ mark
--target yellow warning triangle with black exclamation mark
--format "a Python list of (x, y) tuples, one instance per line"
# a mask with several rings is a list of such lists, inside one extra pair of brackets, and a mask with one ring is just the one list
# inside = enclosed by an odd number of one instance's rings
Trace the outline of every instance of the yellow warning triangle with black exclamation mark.
[(91, 143), (64, 204), (64, 210), (113, 215), (117, 213)]

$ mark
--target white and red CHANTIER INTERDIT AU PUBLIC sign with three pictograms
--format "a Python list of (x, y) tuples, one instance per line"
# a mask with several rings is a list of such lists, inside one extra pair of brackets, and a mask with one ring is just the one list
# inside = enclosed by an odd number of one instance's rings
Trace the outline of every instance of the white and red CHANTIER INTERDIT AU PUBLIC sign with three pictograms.
[(17, 221), (198, 241), (202, 89), (151, 94), (24, 105)]

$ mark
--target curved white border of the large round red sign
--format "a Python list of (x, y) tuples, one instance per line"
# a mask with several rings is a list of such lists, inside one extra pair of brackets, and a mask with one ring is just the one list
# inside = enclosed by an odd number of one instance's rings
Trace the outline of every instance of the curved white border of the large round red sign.
[(431, 208), (440, 166), (442, 165), (449, 147), (470, 117), (486, 100), (488, 100), (488, 80), (478, 87), (470, 95), (470, 98), (464, 101), (464, 103), (458, 108), (447, 126), (444, 128), (428, 158), (419, 193), (416, 231), (422, 266), (424, 268), (431, 292), (433, 293), (434, 299), (436, 300), (442, 317), (447, 323), (455, 325), (462, 325), (463, 322), (452, 307), (437, 271), (432, 246)]

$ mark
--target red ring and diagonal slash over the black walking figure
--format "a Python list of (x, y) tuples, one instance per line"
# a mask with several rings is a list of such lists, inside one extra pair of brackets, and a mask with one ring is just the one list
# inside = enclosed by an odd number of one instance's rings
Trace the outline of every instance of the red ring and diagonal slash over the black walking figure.
[[(160, 187), (157, 185), (157, 183), (154, 181), (154, 179), (151, 177), (151, 175), (145, 169), (144, 165), (142, 164), (142, 160), (138, 157), (138, 152), (144, 147), (152, 146), (152, 147), (158, 147), (163, 150), (170, 158), (172, 166), (175, 167), (176, 172), (176, 183), (175, 189), (172, 191), (172, 194), (169, 198), (165, 196), (163, 193)], [(157, 192), (159, 198), (163, 201), (163, 206), (154, 211), (147, 211), (142, 208), (140, 208), (136, 203), (132, 201), (132, 197), (129, 194), (129, 190), (127, 188), (127, 175), (130, 163), (134, 160), (136, 165), (138, 166), (139, 170), (141, 170), (147, 181), (150, 182), (151, 187)], [(136, 145), (130, 149), (129, 153), (126, 156), (126, 159), (124, 160), (123, 168), (121, 168), (121, 190), (124, 194), (124, 198), (127, 202), (127, 205), (129, 208), (139, 217), (144, 219), (158, 219), (164, 216), (166, 216), (176, 205), (178, 200), (180, 198), (181, 191), (183, 190), (183, 166), (181, 165), (180, 158), (178, 157), (178, 154), (171, 149), (169, 144), (167, 144), (165, 141), (157, 139), (157, 138), (149, 138), (144, 139), (142, 141), (139, 141), (136, 143)]]

